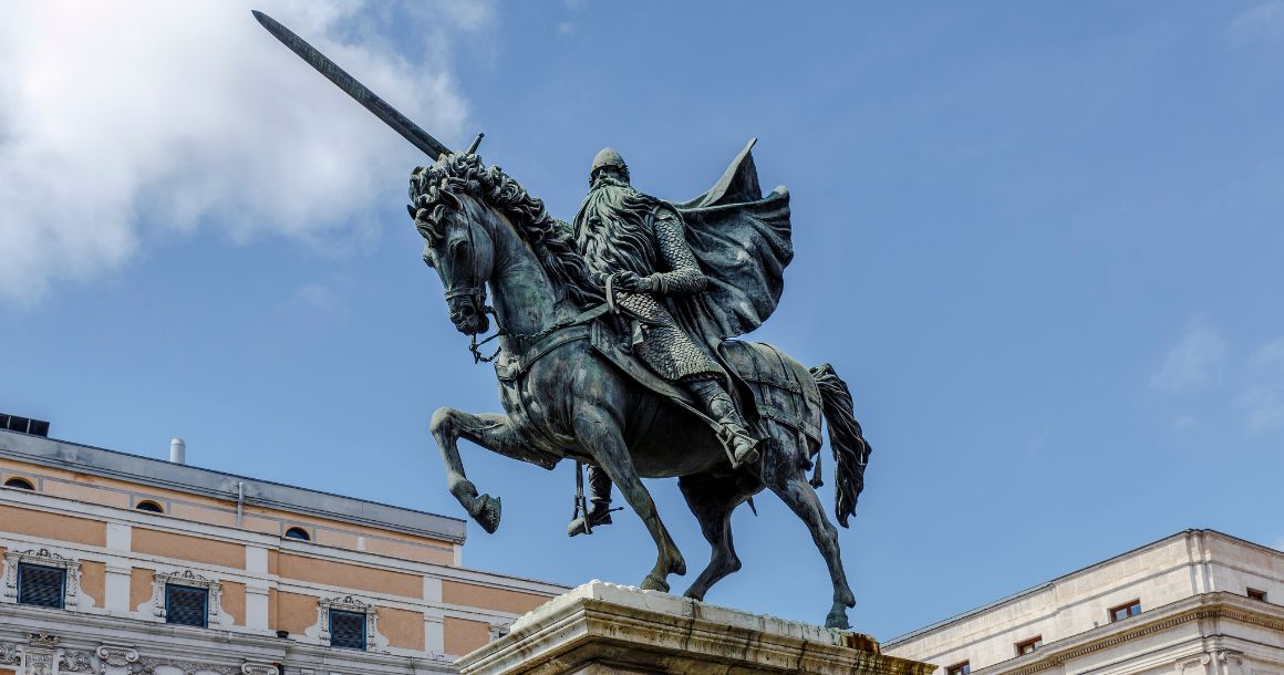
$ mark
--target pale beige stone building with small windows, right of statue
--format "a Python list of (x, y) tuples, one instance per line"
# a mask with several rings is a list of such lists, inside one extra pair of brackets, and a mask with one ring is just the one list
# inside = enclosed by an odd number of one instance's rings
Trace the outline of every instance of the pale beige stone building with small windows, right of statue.
[(1284, 674), (1284, 553), (1186, 530), (883, 644), (936, 675)]

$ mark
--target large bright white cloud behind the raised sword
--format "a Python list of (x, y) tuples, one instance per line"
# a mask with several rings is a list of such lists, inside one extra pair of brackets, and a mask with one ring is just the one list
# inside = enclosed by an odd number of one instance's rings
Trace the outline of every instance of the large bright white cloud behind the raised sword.
[(153, 227), (321, 241), (404, 182), (404, 141), (265, 32), (249, 13), (259, 5), (439, 137), (462, 131), (447, 45), (483, 30), (487, 5), (402, 12), (433, 45), (415, 60), (379, 37), (381, 4), (9, 5), (0, 299), (126, 264)]

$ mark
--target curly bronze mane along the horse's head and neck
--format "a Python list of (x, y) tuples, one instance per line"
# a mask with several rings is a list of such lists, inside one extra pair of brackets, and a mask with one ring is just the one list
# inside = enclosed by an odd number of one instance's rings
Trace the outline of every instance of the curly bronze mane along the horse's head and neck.
[(503, 169), (485, 167), (475, 154), (443, 154), (435, 164), (417, 167), (411, 173), (411, 204), (407, 209), (424, 239), (440, 239), (440, 223), (448, 212), (460, 208), (461, 194), (507, 217), (517, 236), (535, 253), (544, 272), (577, 307), (602, 302), (602, 293), (593, 284), (570, 226), (550, 216), (543, 200), (532, 196)]

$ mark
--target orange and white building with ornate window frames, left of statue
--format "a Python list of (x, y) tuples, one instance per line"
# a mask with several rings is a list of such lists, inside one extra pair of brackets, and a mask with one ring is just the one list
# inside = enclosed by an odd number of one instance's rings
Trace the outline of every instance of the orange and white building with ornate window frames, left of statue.
[(0, 430), (0, 675), (453, 672), (566, 590), (464, 567), (458, 518), (23, 429)]

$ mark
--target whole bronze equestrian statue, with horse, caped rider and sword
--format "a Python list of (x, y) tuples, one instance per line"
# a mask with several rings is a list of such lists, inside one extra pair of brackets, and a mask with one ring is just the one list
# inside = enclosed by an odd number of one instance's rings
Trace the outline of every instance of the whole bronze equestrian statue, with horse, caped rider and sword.
[[(772, 345), (733, 339), (776, 309), (794, 254), (788, 192), (763, 196), (754, 141), (711, 190), (684, 203), (633, 190), (623, 159), (603, 150), (573, 227), (499, 167), (483, 164), (478, 141), (462, 153), (446, 150), (298, 36), (256, 17), (437, 159), (411, 175), (408, 210), (451, 322), (473, 336), (475, 359), (493, 362), (503, 407), (476, 414), (440, 408), (430, 422), (449, 490), (469, 516), (493, 533), (501, 504), (467, 480), (460, 439), (544, 468), (583, 462), (593, 507), (569, 534), (609, 522), (614, 484), (656, 544), (641, 585), (668, 592), (668, 576), (686, 574), (686, 562), (641, 479), (678, 477), (713, 549), (686, 590), (702, 599), (740, 568), (732, 511), (770, 489), (808, 526), (829, 568), (826, 625), (846, 629), (855, 598), (837, 530), (814, 489), (822, 417), (842, 526), (855, 513), (871, 447), (829, 364), (808, 370)], [(490, 317), (497, 332), (478, 341)], [(490, 340), (498, 350), (483, 355)]]

